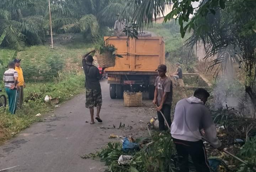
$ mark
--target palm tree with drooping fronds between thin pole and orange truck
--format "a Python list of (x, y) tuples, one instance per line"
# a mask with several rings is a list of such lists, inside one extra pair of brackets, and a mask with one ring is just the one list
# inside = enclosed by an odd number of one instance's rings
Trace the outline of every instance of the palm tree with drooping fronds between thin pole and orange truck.
[(65, 24), (59, 31), (81, 32), (84, 35), (91, 35), (92, 40), (99, 39), (104, 32), (113, 27), (117, 20), (117, 13), (129, 16), (124, 0), (76, 0), (74, 3), (73, 23)]

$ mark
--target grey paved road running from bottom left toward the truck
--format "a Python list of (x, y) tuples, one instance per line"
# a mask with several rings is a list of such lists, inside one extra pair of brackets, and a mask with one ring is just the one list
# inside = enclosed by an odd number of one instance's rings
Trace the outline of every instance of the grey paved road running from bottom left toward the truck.
[[(62, 104), (44, 122), (38, 122), (0, 147), (0, 170), (14, 167), (7, 172), (101, 172), (106, 168), (99, 160), (81, 159), (80, 155), (94, 153), (109, 141), (111, 133), (118, 136), (139, 137), (147, 134), (145, 124), (155, 115), (151, 101), (144, 106), (127, 108), (123, 100), (110, 99), (108, 84), (101, 82), (103, 106), (102, 124), (90, 122), (85, 108), (85, 94)], [(114, 129), (122, 122), (132, 129)], [(102, 128), (110, 128), (104, 129)], [(116, 139), (119, 140), (119, 139)]]

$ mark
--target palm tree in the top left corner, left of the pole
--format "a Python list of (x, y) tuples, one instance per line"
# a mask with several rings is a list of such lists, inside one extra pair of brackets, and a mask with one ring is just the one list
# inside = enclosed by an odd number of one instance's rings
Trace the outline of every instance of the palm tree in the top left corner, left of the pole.
[[(0, 4), (0, 33), (6, 36), (2, 44), (22, 50), (25, 44), (41, 44), (43, 34), (40, 28), (40, 16), (24, 17), (22, 10), (34, 8), (32, 0), (4, 0)], [(4, 10), (5, 9), (5, 10)], [(42, 36), (41, 36), (42, 35)]]

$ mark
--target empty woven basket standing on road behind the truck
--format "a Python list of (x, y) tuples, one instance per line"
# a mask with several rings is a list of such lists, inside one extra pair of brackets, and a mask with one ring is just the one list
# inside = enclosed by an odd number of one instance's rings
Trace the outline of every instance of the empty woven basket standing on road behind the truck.
[(127, 93), (124, 92), (124, 106), (138, 107), (142, 106), (142, 93)]

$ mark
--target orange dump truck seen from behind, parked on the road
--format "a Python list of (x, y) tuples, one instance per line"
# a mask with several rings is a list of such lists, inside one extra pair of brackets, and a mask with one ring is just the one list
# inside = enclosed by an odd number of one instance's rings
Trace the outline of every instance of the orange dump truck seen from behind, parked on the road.
[(148, 92), (154, 98), (154, 83), (159, 64), (165, 63), (165, 42), (162, 37), (104, 37), (107, 44), (117, 48), (114, 67), (105, 69), (110, 84), (110, 97), (123, 98), (124, 91)]

